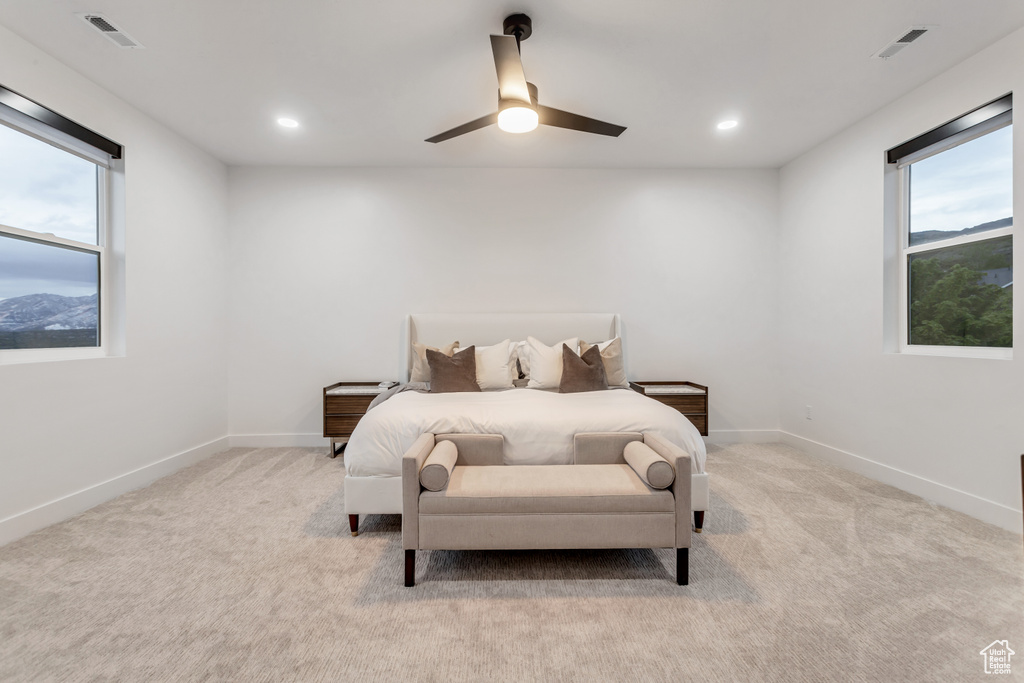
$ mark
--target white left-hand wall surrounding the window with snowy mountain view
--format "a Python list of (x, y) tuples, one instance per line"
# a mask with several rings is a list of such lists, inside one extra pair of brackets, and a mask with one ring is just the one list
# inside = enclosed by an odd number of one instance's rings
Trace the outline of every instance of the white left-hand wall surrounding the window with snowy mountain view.
[(222, 164), (3, 28), (0, 83), (124, 144), (127, 198), (127, 355), (0, 366), (2, 544), (225, 444), (227, 285)]

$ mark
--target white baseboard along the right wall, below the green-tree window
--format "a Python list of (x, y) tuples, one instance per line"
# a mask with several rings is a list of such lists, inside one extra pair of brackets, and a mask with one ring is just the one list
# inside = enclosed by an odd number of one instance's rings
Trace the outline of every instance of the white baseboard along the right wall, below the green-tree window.
[(861, 456), (855, 456), (846, 451), (834, 449), (830, 445), (813, 441), (803, 436), (797, 436), (786, 431), (779, 432), (779, 440), (804, 453), (838, 465), (843, 469), (862, 474), (876, 481), (896, 486), (927, 501), (938, 503), (957, 512), (971, 515), (976, 519), (995, 524), (1008, 531), (1021, 533), (1021, 511), (1014, 510), (1001, 503), (995, 503), (974, 494), (969, 494), (952, 486), (926, 479), (916, 474), (877, 463)]

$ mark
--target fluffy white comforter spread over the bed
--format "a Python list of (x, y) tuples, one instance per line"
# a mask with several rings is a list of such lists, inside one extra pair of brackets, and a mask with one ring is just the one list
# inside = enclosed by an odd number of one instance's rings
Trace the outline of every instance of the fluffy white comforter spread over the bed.
[(629, 389), (397, 393), (356, 425), (345, 468), (350, 476), (400, 476), (402, 455), (425, 432), (502, 434), (508, 465), (565, 465), (575, 433), (601, 431), (656, 432), (690, 455), (694, 472), (705, 471), (705, 442), (690, 421)]

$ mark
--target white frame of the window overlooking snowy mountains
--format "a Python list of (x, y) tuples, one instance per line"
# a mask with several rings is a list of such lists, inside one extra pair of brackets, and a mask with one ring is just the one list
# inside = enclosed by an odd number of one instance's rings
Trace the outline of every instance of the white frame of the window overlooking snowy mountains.
[[(13, 130), (35, 137), (69, 154), (96, 164), (96, 244), (88, 244), (54, 234), (37, 232), (25, 228), (0, 223), (0, 234), (16, 239), (25, 239), (38, 244), (54, 247), (68, 247), (77, 251), (96, 254), (99, 258), (99, 279), (97, 304), (99, 315), (99, 344), (97, 346), (72, 346), (61, 348), (16, 348), (0, 349), (0, 366), (23, 362), (42, 362), (53, 360), (78, 360), (84, 358), (102, 358), (115, 354), (112, 344), (111, 304), (113, 275), (108, 258), (111, 244), (111, 207), (112, 201), (112, 164), (95, 151), (83, 148), (84, 145), (73, 141), (68, 135), (56, 130), (47, 130), (43, 125), (22, 117), (17, 112), (0, 110), (0, 125), (6, 125)], [(106, 163), (103, 163), (103, 162)]]

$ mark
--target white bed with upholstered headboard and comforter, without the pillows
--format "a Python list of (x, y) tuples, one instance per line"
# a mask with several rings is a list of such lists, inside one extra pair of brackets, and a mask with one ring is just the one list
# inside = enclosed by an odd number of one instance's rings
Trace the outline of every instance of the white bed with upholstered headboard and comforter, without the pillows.
[[(613, 313), (413, 314), (403, 326), (399, 377), (409, 380), (413, 342), (484, 346), (527, 335), (546, 344), (623, 336)], [(652, 431), (685, 450), (693, 463), (693, 511), (702, 518), (709, 495), (700, 434), (675, 409), (623, 388), (575, 394), (529, 388), (397, 392), (367, 412), (345, 449), (345, 512), (353, 533), (358, 515), (401, 514), (401, 459), (424, 432), (502, 434), (507, 464), (537, 465), (571, 463), (577, 433), (613, 431)]]

